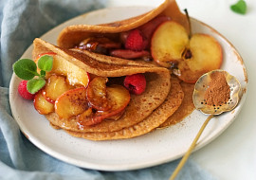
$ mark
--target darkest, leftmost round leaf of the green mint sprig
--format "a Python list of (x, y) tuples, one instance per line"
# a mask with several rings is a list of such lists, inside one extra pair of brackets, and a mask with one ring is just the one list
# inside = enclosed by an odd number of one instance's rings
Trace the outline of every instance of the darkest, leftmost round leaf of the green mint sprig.
[(37, 73), (36, 63), (29, 59), (21, 59), (12, 65), (14, 73), (22, 80), (31, 80), (35, 76), (39, 76)]

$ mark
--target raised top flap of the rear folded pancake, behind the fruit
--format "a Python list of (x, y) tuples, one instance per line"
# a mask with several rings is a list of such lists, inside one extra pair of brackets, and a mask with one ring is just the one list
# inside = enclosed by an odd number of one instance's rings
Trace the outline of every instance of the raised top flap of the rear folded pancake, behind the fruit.
[(178, 9), (175, 0), (165, 0), (160, 6), (151, 11), (132, 17), (130, 19), (117, 21), (103, 25), (73, 25), (65, 27), (59, 34), (57, 45), (64, 48), (72, 48), (88, 37), (97, 34), (104, 34), (104, 37), (117, 39), (119, 33), (144, 25), (158, 15), (166, 15), (181, 24), (190, 31), (190, 26), (186, 15)]

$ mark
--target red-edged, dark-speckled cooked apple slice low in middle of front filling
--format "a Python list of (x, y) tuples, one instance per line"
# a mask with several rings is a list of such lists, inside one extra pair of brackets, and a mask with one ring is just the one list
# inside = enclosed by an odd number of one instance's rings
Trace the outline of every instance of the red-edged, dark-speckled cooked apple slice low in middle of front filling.
[(89, 108), (86, 99), (86, 88), (71, 89), (55, 100), (55, 112), (61, 118), (69, 118), (82, 114)]

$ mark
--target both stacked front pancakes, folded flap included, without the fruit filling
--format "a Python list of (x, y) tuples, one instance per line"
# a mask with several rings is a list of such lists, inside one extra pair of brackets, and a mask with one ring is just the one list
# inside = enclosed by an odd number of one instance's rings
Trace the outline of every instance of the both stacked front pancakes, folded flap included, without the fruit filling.
[(131, 95), (128, 106), (117, 120), (108, 119), (93, 126), (79, 126), (76, 117), (60, 118), (55, 112), (45, 115), (53, 126), (63, 128), (70, 135), (93, 140), (144, 135), (172, 116), (184, 97), (179, 81), (172, 78), (171, 82), (170, 71), (166, 68), (96, 53), (86, 54), (51, 45), (41, 39), (35, 39), (33, 45), (33, 58), (46, 52), (54, 52), (90, 75), (111, 79), (143, 73), (146, 77), (145, 92)]

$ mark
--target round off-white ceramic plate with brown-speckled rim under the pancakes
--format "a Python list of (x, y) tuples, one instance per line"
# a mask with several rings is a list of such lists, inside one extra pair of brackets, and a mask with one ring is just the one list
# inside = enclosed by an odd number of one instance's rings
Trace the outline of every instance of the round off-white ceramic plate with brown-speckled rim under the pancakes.
[[(101, 24), (134, 16), (151, 8), (124, 7), (101, 9), (67, 21), (59, 27), (48, 31), (41, 38), (56, 43), (59, 32), (67, 25)], [(222, 69), (235, 76), (243, 87), (243, 97), (231, 112), (210, 120), (209, 125), (199, 139), (196, 150), (202, 148), (224, 130), (237, 117), (247, 94), (247, 71), (236, 49), (211, 27), (192, 19), (193, 32), (204, 32), (214, 36), (224, 50)], [(22, 58), (31, 58), (32, 45)], [(44, 116), (39, 115), (31, 101), (21, 99), (17, 86), (19, 79), (12, 76), (9, 86), (9, 102), (13, 117), (27, 138), (44, 152), (79, 167), (103, 171), (124, 171), (146, 168), (181, 157), (192, 143), (207, 116), (199, 111), (186, 117), (181, 123), (148, 135), (132, 139), (113, 141), (90, 141), (76, 138), (54, 130)]]

